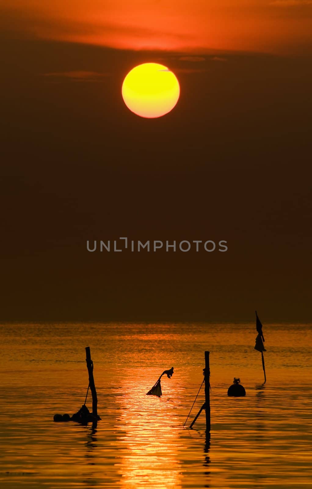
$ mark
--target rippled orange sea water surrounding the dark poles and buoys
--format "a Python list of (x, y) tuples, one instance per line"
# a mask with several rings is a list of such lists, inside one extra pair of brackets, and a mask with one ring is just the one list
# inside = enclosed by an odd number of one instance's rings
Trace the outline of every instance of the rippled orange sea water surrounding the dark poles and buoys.
[[(307, 488), (312, 480), (311, 325), (3, 324), (1, 488)], [(53, 422), (84, 402), (90, 346), (102, 421)], [(210, 351), (205, 413), (183, 424)], [(162, 398), (146, 396), (159, 375)], [(245, 398), (229, 398), (233, 377)], [(204, 388), (190, 419), (204, 402)], [(87, 406), (91, 410), (91, 398)]]

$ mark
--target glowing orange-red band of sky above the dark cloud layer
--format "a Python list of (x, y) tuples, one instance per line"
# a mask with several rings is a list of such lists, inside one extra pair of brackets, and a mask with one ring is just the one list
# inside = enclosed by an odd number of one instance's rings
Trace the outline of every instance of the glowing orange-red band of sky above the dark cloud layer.
[(312, 0), (2, 0), (2, 30), (115, 48), (301, 53)]

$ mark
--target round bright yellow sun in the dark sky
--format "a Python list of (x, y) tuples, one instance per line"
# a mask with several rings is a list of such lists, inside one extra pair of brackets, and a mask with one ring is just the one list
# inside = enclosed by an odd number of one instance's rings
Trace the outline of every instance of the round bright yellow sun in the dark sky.
[(179, 82), (164, 65), (144, 63), (125, 77), (122, 94), (130, 111), (149, 119), (170, 112), (180, 95)]

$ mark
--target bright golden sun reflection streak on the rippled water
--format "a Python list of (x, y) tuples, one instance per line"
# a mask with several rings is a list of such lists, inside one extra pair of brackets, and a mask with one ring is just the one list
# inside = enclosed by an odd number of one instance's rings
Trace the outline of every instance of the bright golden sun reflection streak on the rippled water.
[[(140, 382), (125, 381), (120, 398), (119, 426), (125, 431), (120, 442), (124, 452), (119, 470), (123, 488), (150, 485), (154, 488), (181, 488), (178, 460), (177, 425), (170, 400), (145, 396), (142, 385), (149, 385), (154, 370), (144, 371)], [(164, 390), (163, 382), (163, 390)], [(167, 389), (167, 386), (165, 387)], [(148, 389), (146, 389), (147, 391)]]

